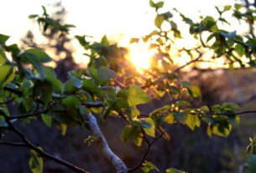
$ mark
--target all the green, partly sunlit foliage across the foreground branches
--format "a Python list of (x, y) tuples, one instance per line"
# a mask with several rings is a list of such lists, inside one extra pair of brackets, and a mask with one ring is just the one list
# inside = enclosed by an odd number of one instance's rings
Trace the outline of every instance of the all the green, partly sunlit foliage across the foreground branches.
[[(236, 104), (213, 105), (212, 107), (201, 106), (196, 108), (191, 105), (191, 100), (201, 100), (201, 92), (198, 87), (188, 81), (179, 78), (177, 70), (173, 69), (173, 60), (170, 58), (170, 48), (175, 45), (174, 39), (181, 38), (177, 24), (171, 19), (172, 14), (159, 13), (164, 3), (154, 3), (149, 1), (152, 8), (155, 8), (157, 16), (154, 20), (156, 30), (142, 38), (144, 42), (150, 41), (151, 48), (157, 50), (154, 55), (154, 64), (151, 69), (145, 71), (149, 77), (136, 73), (133, 65), (125, 58), (126, 48), (120, 48), (117, 44), (111, 44), (104, 36), (101, 42), (87, 40), (89, 36), (76, 36), (81, 46), (85, 48), (86, 56), (90, 58), (88, 69), (69, 72), (69, 79), (63, 84), (56, 78), (55, 70), (47, 67), (44, 63), (50, 62), (50, 56), (40, 48), (29, 48), (20, 50), (16, 44), (6, 45), (8, 36), (0, 35), (0, 101), (5, 117), (0, 114), (1, 135), (8, 130), (8, 120), (30, 121), (31, 117), (38, 118), (45, 125), (56, 127), (62, 130), (65, 135), (67, 125), (86, 125), (87, 114), (98, 114), (102, 120), (109, 116), (116, 116), (125, 120), (127, 125), (121, 133), (121, 141), (126, 144), (128, 140), (133, 140), (135, 145), (140, 146), (143, 141), (149, 147), (155, 140), (163, 136), (169, 140), (169, 135), (164, 129), (164, 125), (182, 124), (191, 130), (201, 125), (201, 121), (208, 124), (207, 134), (227, 136), (232, 129), (232, 122), (238, 121), (235, 110)], [(37, 18), (39, 24), (47, 28), (56, 29), (61, 34), (68, 33), (72, 25), (61, 25), (58, 21), (50, 18), (45, 8), (43, 17), (30, 15), (29, 18)], [(225, 7), (222, 13), (230, 10)], [(238, 9), (237, 9), (238, 10)], [(177, 12), (177, 11), (175, 11)], [(217, 26), (217, 21), (225, 22), (222, 17), (215, 20), (212, 17), (202, 18), (201, 23), (193, 23), (190, 18), (186, 18), (180, 13), (185, 23), (191, 25), (190, 32), (195, 37), (199, 35), (199, 40), (205, 48), (212, 48), (217, 57), (225, 55), (229, 64), (238, 62), (243, 67), (240, 57), (245, 55), (249, 59), (249, 65), (255, 66), (253, 53), (256, 51), (255, 38), (248, 38), (243, 42), (243, 38), (235, 32), (228, 33)], [(170, 23), (170, 30), (164, 31), (162, 23)], [(201, 33), (210, 33), (207, 40), (215, 38), (211, 46), (206, 46), (202, 41)], [(171, 33), (171, 35), (170, 35)], [(132, 42), (137, 42), (138, 38), (133, 38)], [(193, 55), (191, 51), (183, 49)], [(12, 58), (8, 59), (6, 53), (11, 53)], [(200, 57), (199, 57), (200, 58)], [(122, 81), (122, 82), (121, 82)], [(138, 104), (149, 103), (151, 97), (160, 99), (164, 94), (168, 94), (170, 104), (162, 108), (155, 109), (150, 114), (142, 114), (138, 109)], [(18, 115), (8, 113), (7, 100), (18, 105)], [(9, 102), (8, 102), (9, 103)], [(148, 138), (152, 138), (149, 142)], [(91, 136), (85, 140), (88, 145), (97, 140), (96, 136)], [(31, 151), (29, 165), (31, 170), (42, 172), (42, 158)], [(144, 159), (142, 170), (157, 169), (152, 163)], [(170, 168), (166, 172), (182, 172)]]

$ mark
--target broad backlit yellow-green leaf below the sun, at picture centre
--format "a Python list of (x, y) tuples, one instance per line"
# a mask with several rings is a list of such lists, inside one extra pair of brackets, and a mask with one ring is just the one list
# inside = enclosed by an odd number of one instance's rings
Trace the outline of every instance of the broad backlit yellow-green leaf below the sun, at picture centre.
[(135, 84), (128, 85), (127, 89), (123, 90), (123, 94), (127, 97), (128, 104), (130, 106), (145, 104), (150, 101), (149, 96), (144, 92), (144, 90), (140, 89)]

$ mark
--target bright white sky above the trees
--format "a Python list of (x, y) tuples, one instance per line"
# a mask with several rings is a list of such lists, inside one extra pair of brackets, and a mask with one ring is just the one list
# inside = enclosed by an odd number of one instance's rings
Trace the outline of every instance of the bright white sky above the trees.
[[(44, 5), (50, 13), (50, 4), (56, 0), (7, 0), (2, 1), (0, 10), (0, 33), (11, 36), (8, 43), (18, 43), (24, 34), (32, 29), (39, 33), (36, 23), (29, 14), (42, 14)], [(234, 0), (165, 0), (163, 12), (177, 8), (190, 18), (200, 15), (216, 16), (214, 6), (234, 3)], [(104, 34), (113, 41), (128, 44), (129, 38), (141, 37), (154, 28), (154, 9), (149, 0), (62, 0), (67, 11), (66, 22), (76, 26), (70, 32), (75, 35), (91, 35), (100, 40)], [(15, 13), (13, 13), (15, 12)], [(161, 12), (161, 11), (160, 11)], [(75, 43), (78, 47), (78, 43)], [(82, 54), (77, 48), (76, 56)], [(78, 62), (79, 63), (79, 62)]]

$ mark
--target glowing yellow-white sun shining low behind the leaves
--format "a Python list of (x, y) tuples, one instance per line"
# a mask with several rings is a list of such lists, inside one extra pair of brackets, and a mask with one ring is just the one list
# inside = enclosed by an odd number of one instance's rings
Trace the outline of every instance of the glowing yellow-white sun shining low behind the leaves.
[(128, 59), (133, 63), (138, 71), (150, 68), (151, 58), (155, 50), (149, 48), (150, 43), (138, 42), (128, 46)]

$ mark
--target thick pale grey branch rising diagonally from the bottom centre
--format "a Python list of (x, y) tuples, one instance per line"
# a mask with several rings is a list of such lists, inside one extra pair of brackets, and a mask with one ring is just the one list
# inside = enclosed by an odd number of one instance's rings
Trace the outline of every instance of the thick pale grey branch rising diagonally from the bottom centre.
[(104, 158), (116, 168), (118, 173), (127, 173), (128, 169), (126, 165), (109, 148), (105, 137), (102, 135), (102, 131), (97, 125), (97, 120), (92, 114), (86, 114), (86, 128), (91, 131), (92, 135), (99, 137), (96, 143)]

